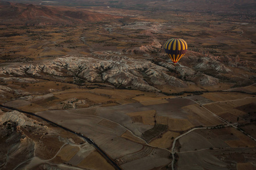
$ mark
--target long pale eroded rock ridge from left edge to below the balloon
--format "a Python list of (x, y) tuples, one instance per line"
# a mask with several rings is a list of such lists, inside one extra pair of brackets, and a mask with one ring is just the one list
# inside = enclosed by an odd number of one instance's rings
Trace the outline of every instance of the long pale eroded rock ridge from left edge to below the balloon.
[[(44, 63), (0, 68), (0, 75), (75, 76), (88, 82), (109, 82), (116, 87), (158, 91), (154, 84), (185, 87), (186, 84), (171, 76), (168, 69), (146, 59), (94, 53), (94, 56), (65, 56)], [(67, 75), (66, 75), (67, 74)]]

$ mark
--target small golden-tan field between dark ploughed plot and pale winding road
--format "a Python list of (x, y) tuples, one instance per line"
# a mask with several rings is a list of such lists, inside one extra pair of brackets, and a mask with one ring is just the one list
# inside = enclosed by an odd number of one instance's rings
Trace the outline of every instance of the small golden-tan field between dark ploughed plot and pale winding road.
[(179, 133), (174, 131), (167, 131), (161, 138), (157, 138), (149, 144), (155, 147), (170, 148), (172, 146), (172, 141), (174, 141), (174, 139), (179, 135)]

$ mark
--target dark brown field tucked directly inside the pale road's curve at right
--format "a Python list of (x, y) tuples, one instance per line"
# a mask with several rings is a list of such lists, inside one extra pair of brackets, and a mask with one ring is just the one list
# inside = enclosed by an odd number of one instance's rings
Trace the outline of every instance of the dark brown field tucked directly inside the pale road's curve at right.
[(234, 128), (197, 129), (179, 139), (180, 152), (209, 148), (255, 148), (256, 143)]

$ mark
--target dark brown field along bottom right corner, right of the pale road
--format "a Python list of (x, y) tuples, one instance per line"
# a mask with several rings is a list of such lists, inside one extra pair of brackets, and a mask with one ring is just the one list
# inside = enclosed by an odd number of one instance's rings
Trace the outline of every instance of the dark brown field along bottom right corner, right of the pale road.
[[(214, 148), (206, 151), (179, 153), (177, 169), (237, 169), (237, 165), (245, 164), (245, 168), (254, 165), (255, 148)], [(232, 164), (230, 164), (232, 162)], [(255, 169), (255, 167), (253, 167)]]

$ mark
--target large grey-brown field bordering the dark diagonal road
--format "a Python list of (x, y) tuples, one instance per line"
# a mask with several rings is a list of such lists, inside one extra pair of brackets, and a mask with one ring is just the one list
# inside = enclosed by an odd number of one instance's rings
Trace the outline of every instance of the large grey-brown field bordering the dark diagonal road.
[[(71, 111), (77, 111), (77, 109)], [(142, 148), (141, 144), (121, 137), (126, 131), (122, 126), (117, 125), (113, 129), (113, 127), (109, 128), (98, 124), (104, 118), (86, 114), (73, 114), (69, 111), (46, 111), (38, 114), (47, 116), (49, 120), (57, 121), (60, 125), (65, 125), (65, 127), (93, 139), (113, 159), (136, 152)]]

